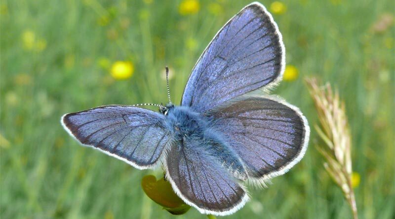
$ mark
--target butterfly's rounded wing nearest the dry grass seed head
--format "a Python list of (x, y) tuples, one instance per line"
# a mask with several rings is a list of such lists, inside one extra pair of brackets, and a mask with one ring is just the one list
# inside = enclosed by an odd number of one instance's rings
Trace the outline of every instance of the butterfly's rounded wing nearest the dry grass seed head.
[(304, 156), (310, 128), (298, 108), (277, 98), (244, 97), (207, 112), (253, 182), (281, 175)]

